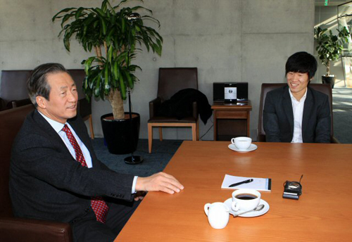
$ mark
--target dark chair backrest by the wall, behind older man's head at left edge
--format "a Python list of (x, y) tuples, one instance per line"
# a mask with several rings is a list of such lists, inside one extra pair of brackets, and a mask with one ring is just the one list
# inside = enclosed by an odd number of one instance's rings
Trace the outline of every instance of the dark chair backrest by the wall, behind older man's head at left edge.
[(4, 106), (11, 105), (11, 101), (28, 98), (26, 82), (31, 72), (32, 70), (1, 71), (0, 98), (4, 101)]

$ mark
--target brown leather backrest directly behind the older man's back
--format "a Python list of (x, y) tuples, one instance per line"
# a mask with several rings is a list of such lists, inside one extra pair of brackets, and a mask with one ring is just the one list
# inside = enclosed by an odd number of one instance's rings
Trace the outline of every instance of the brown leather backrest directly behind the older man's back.
[(32, 104), (0, 112), (0, 216), (12, 217), (8, 179), (13, 140), (28, 113), (34, 110)]

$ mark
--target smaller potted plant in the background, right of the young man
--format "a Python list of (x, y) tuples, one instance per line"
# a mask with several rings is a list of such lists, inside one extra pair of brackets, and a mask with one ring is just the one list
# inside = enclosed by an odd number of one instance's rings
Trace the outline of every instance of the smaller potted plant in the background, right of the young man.
[(327, 29), (320, 27), (314, 29), (314, 39), (317, 42), (315, 50), (318, 51), (320, 61), (327, 68), (326, 75), (322, 76), (322, 83), (331, 84), (334, 88), (335, 76), (330, 75), (330, 61), (336, 61), (341, 56), (343, 44), (348, 43), (350, 33), (346, 27), (341, 31), (337, 30), (337, 35), (332, 34), (331, 30), (329, 30), (329, 34), (326, 32)]

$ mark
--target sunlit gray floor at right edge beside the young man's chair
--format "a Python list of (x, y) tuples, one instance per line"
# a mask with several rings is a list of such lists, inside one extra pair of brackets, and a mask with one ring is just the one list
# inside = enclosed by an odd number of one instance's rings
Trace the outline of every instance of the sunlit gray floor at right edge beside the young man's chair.
[(343, 144), (352, 144), (352, 89), (332, 89), (334, 136)]

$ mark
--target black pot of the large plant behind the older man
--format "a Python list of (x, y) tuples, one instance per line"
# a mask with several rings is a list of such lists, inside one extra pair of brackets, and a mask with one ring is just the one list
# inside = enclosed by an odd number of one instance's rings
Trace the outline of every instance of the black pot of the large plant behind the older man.
[(125, 113), (125, 117), (125, 120), (114, 120), (113, 114), (108, 113), (100, 118), (108, 151), (116, 155), (132, 153), (138, 144), (141, 117), (132, 113), (132, 130), (129, 113)]

